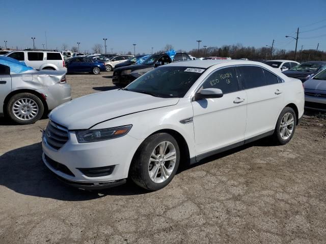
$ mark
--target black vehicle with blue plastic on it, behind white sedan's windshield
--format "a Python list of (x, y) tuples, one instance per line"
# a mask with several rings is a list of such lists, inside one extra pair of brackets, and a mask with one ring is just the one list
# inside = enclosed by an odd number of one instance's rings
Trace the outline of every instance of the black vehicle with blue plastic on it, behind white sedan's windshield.
[(173, 59), (167, 53), (153, 54), (149, 56), (142, 65), (132, 65), (126, 67), (115, 68), (113, 72), (112, 82), (118, 86), (126, 86), (138, 77), (148, 71), (176, 61), (191, 60), (189, 55), (184, 52), (176, 52)]

